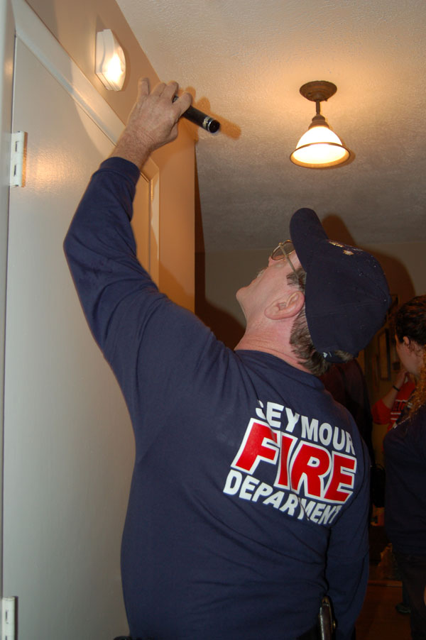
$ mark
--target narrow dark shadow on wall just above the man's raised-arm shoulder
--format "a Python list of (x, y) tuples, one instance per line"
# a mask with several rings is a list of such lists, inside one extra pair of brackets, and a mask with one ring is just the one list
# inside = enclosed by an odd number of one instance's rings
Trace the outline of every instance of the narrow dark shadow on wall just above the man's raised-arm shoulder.
[(242, 326), (231, 314), (214, 307), (206, 299), (206, 263), (204, 253), (204, 235), (198, 188), (197, 161), (195, 161), (195, 313), (212, 329), (214, 335), (227, 347), (233, 349), (244, 333)]

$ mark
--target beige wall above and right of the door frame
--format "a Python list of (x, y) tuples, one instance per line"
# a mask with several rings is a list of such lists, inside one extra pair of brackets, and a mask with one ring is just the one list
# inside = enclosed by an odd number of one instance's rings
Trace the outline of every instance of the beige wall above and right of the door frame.
[[(158, 76), (116, 2), (27, 1), (99, 94), (126, 122), (136, 99), (138, 78), (148, 77), (153, 86), (158, 82)], [(94, 73), (96, 33), (105, 28), (114, 32), (126, 55), (126, 80), (121, 92), (104, 89)], [(166, 82), (170, 79), (164, 78)], [(194, 309), (195, 297), (194, 149), (195, 140), (183, 121), (178, 140), (153, 154), (153, 160), (160, 168), (160, 288), (189, 309)]]

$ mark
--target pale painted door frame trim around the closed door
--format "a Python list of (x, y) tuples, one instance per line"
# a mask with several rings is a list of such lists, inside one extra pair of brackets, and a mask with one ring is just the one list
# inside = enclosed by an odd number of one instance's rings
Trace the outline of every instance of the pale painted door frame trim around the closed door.
[[(15, 39), (19, 38), (65, 91), (115, 144), (124, 123), (82, 73), (58, 40), (25, 0), (0, 0), (0, 597), (3, 593), (3, 460), (4, 346), (6, 319), (6, 265), (9, 228), (9, 170), (11, 154), (13, 69)], [(148, 268), (158, 282), (160, 228), (160, 172), (150, 158), (142, 170), (150, 189), (150, 253)], [(25, 187), (11, 187), (15, 189)], [(1, 620), (1, 616), (0, 616)], [(1, 622), (0, 622), (1, 624)]]

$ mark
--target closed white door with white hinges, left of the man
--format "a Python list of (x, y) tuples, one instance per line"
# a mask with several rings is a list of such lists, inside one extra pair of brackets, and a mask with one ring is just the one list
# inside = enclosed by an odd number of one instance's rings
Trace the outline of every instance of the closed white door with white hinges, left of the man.
[(18, 597), (20, 640), (111, 640), (127, 631), (119, 553), (133, 434), (62, 252), (111, 142), (21, 40), (18, 130), (28, 142), (9, 213), (4, 596)]

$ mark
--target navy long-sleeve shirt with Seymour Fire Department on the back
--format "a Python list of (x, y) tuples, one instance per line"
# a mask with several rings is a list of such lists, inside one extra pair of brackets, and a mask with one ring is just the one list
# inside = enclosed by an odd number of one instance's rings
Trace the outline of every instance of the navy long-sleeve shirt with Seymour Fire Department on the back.
[(231, 351), (160, 293), (131, 232), (138, 169), (92, 177), (65, 252), (129, 407), (122, 541), (131, 635), (294, 640), (332, 597), (351, 637), (368, 577), (368, 453), (313, 375)]

